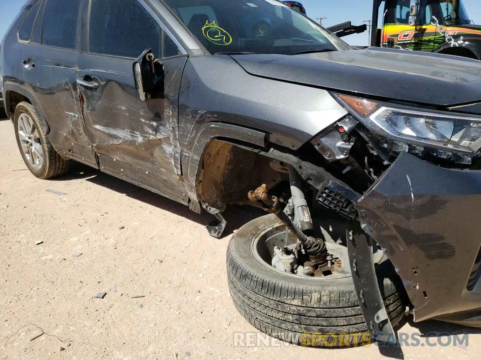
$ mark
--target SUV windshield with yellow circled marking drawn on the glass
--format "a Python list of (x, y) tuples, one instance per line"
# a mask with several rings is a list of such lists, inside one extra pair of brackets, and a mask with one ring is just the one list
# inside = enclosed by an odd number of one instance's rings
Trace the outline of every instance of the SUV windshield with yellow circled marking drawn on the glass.
[(277, 0), (164, 0), (211, 53), (292, 54), (349, 46)]

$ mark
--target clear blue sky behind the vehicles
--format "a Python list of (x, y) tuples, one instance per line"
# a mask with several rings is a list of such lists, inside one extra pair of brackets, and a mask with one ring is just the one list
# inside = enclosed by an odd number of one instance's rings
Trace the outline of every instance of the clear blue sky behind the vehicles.
[[(372, 0), (298, 0), (306, 9), (307, 16), (311, 19), (326, 17), (322, 25), (329, 27), (351, 21), (353, 25), (362, 25), (365, 20), (372, 16)], [(481, 24), (480, 0), (463, 0), (469, 20), (475, 24)], [(0, 0), (0, 39), (3, 38), (10, 23), (18, 14), (25, 0)], [(354, 34), (342, 38), (354, 46), (367, 46), (367, 31), (362, 34)]]

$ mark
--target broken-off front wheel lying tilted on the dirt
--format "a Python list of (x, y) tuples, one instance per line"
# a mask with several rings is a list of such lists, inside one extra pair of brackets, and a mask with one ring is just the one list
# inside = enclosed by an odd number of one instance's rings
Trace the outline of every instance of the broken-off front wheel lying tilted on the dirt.
[[(273, 214), (250, 221), (232, 236), (227, 249), (228, 285), (241, 315), (258, 330), (295, 344), (347, 346), (369, 341), (347, 248), (328, 242), (338, 270), (303, 276), (281, 272), (268, 263), (273, 246), (287, 241), (285, 226)], [(389, 261), (377, 264), (376, 272), (394, 326), (404, 316), (404, 288)]]

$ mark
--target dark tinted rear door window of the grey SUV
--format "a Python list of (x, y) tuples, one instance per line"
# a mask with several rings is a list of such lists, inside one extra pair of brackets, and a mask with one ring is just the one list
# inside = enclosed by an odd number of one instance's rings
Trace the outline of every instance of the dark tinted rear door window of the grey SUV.
[(48, 0), (43, 18), (42, 44), (75, 49), (80, 0)]

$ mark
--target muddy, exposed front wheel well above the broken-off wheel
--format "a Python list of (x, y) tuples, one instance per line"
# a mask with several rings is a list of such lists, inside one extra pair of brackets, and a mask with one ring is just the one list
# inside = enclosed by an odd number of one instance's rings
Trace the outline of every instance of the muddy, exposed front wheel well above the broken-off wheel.
[[(201, 158), (195, 190), (202, 207), (212, 214), (223, 212), (228, 204), (252, 204), (247, 194), (262, 184), (266, 184), (272, 195), (288, 201), (289, 166), (304, 180), (302, 187), (308, 202), (330, 180), (354, 191), (364, 190), (372, 182), (354, 158), (328, 164), (310, 143), (297, 151), (274, 144), (254, 150), (215, 139), (205, 147)], [(347, 173), (343, 172), (346, 168), (350, 169)]]

